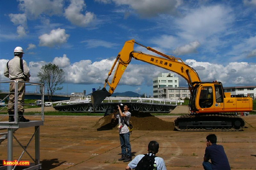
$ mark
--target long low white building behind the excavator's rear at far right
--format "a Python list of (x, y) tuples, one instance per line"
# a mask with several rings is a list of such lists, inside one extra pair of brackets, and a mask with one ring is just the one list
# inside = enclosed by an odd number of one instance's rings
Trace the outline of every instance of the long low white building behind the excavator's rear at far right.
[(256, 86), (234, 86), (223, 87), (224, 92), (230, 92), (231, 95), (249, 95), (253, 99), (256, 99)]

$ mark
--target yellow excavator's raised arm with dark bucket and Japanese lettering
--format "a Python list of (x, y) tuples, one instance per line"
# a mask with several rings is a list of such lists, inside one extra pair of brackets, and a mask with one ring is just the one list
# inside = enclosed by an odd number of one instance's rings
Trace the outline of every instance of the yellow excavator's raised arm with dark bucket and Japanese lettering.
[[(135, 43), (145, 47), (149, 51), (153, 51), (154, 53), (161, 55), (161, 57), (145, 54), (140, 51), (134, 51)], [(114, 61), (114, 64), (108, 73), (108, 77), (105, 80), (104, 88), (102, 88), (102, 90), (93, 92), (91, 96), (93, 105), (100, 104), (106, 97), (109, 97), (111, 94), (113, 94), (132, 58), (179, 74), (185, 78), (185, 80), (187, 80), (190, 90), (192, 89), (193, 82), (201, 82), (196, 71), (192, 67), (185, 64), (182, 59), (173, 57), (172, 55), (163, 54), (151, 47), (146, 47), (138, 42), (135, 42), (135, 40), (129, 40), (125, 42), (123, 49), (117, 55), (116, 60)], [(116, 70), (114, 72), (113, 79), (111, 82), (109, 82), (109, 76), (112, 74), (115, 67)], [(107, 84), (109, 85), (109, 91), (106, 90)]]

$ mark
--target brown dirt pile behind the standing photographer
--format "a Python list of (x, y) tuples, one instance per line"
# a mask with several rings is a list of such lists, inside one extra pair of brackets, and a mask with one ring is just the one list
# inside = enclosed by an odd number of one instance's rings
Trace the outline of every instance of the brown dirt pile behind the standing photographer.
[[(142, 113), (138, 111), (131, 111), (130, 123), (133, 125), (133, 130), (155, 130), (155, 131), (169, 131), (174, 130), (173, 122), (168, 122), (152, 116), (149, 113)], [(116, 129), (118, 120), (112, 119), (112, 114), (102, 117), (94, 125), (98, 131)]]

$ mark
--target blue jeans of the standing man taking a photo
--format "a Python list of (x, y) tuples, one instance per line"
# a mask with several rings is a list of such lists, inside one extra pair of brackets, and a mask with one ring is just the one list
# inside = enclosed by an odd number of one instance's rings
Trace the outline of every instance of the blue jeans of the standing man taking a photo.
[[(129, 157), (132, 156), (132, 148), (130, 144), (130, 132), (126, 134), (119, 134), (120, 137), (120, 144), (121, 144), (121, 150), (122, 155), (128, 155)], [(127, 149), (127, 151), (126, 151)]]

